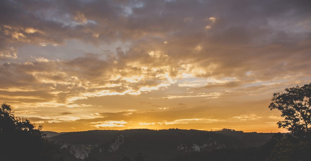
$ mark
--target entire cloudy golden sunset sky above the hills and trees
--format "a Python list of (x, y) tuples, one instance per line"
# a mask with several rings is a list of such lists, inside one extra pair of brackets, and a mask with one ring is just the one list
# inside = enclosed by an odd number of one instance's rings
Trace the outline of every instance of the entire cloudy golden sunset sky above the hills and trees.
[(285, 132), (309, 0), (2, 0), (0, 103), (45, 131)]

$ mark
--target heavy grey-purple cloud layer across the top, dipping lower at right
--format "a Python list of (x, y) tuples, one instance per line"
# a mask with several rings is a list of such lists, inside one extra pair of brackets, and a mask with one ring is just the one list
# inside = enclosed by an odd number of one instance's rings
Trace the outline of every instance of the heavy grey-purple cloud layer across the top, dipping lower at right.
[[(30, 0), (1, 3), (1, 39), (5, 46), (62, 44), (66, 39), (95, 44), (131, 41), (130, 49), (119, 54), (119, 63), (138, 61), (153, 63), (153, 66), (167, 63), (173, 64), (172, 69), (179, 68), (177, 64), (183, 59), (202, 67), (218, 64), (215, 71), (197, 75), (202, 77), (242, 75), (247, 70), (261, 68), (253, 61), (275, 64), (271, 66), (275, 69), (281, 65), (277, 63), (285, 62), (279, 59), (281, 54), (286, 60), (294, 54), (298, 59), (310, 57), (309, 1)], [(194, 50), (196, 47), (201, 50)], [(157, 50), (169, 58), (151, 59), (146, 55)], [(4, 53), (1, 58), (14, 58), (7, 48)], [(174, 76), (175, 72), (172, 70), (170, 74)], [(270, 73), (275, 75), (273, 71)]]

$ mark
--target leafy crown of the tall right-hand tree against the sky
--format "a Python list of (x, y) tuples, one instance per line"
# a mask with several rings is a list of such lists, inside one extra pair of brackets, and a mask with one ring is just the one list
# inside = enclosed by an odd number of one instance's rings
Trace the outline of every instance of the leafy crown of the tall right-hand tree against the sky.
[(279, 128), (291, 131), (295, 136), (311, 137), (311, 83), (299, 87), (286, 88), (286, 93), (274, 93), (270, 110), (281, 111), (283, 121)]

